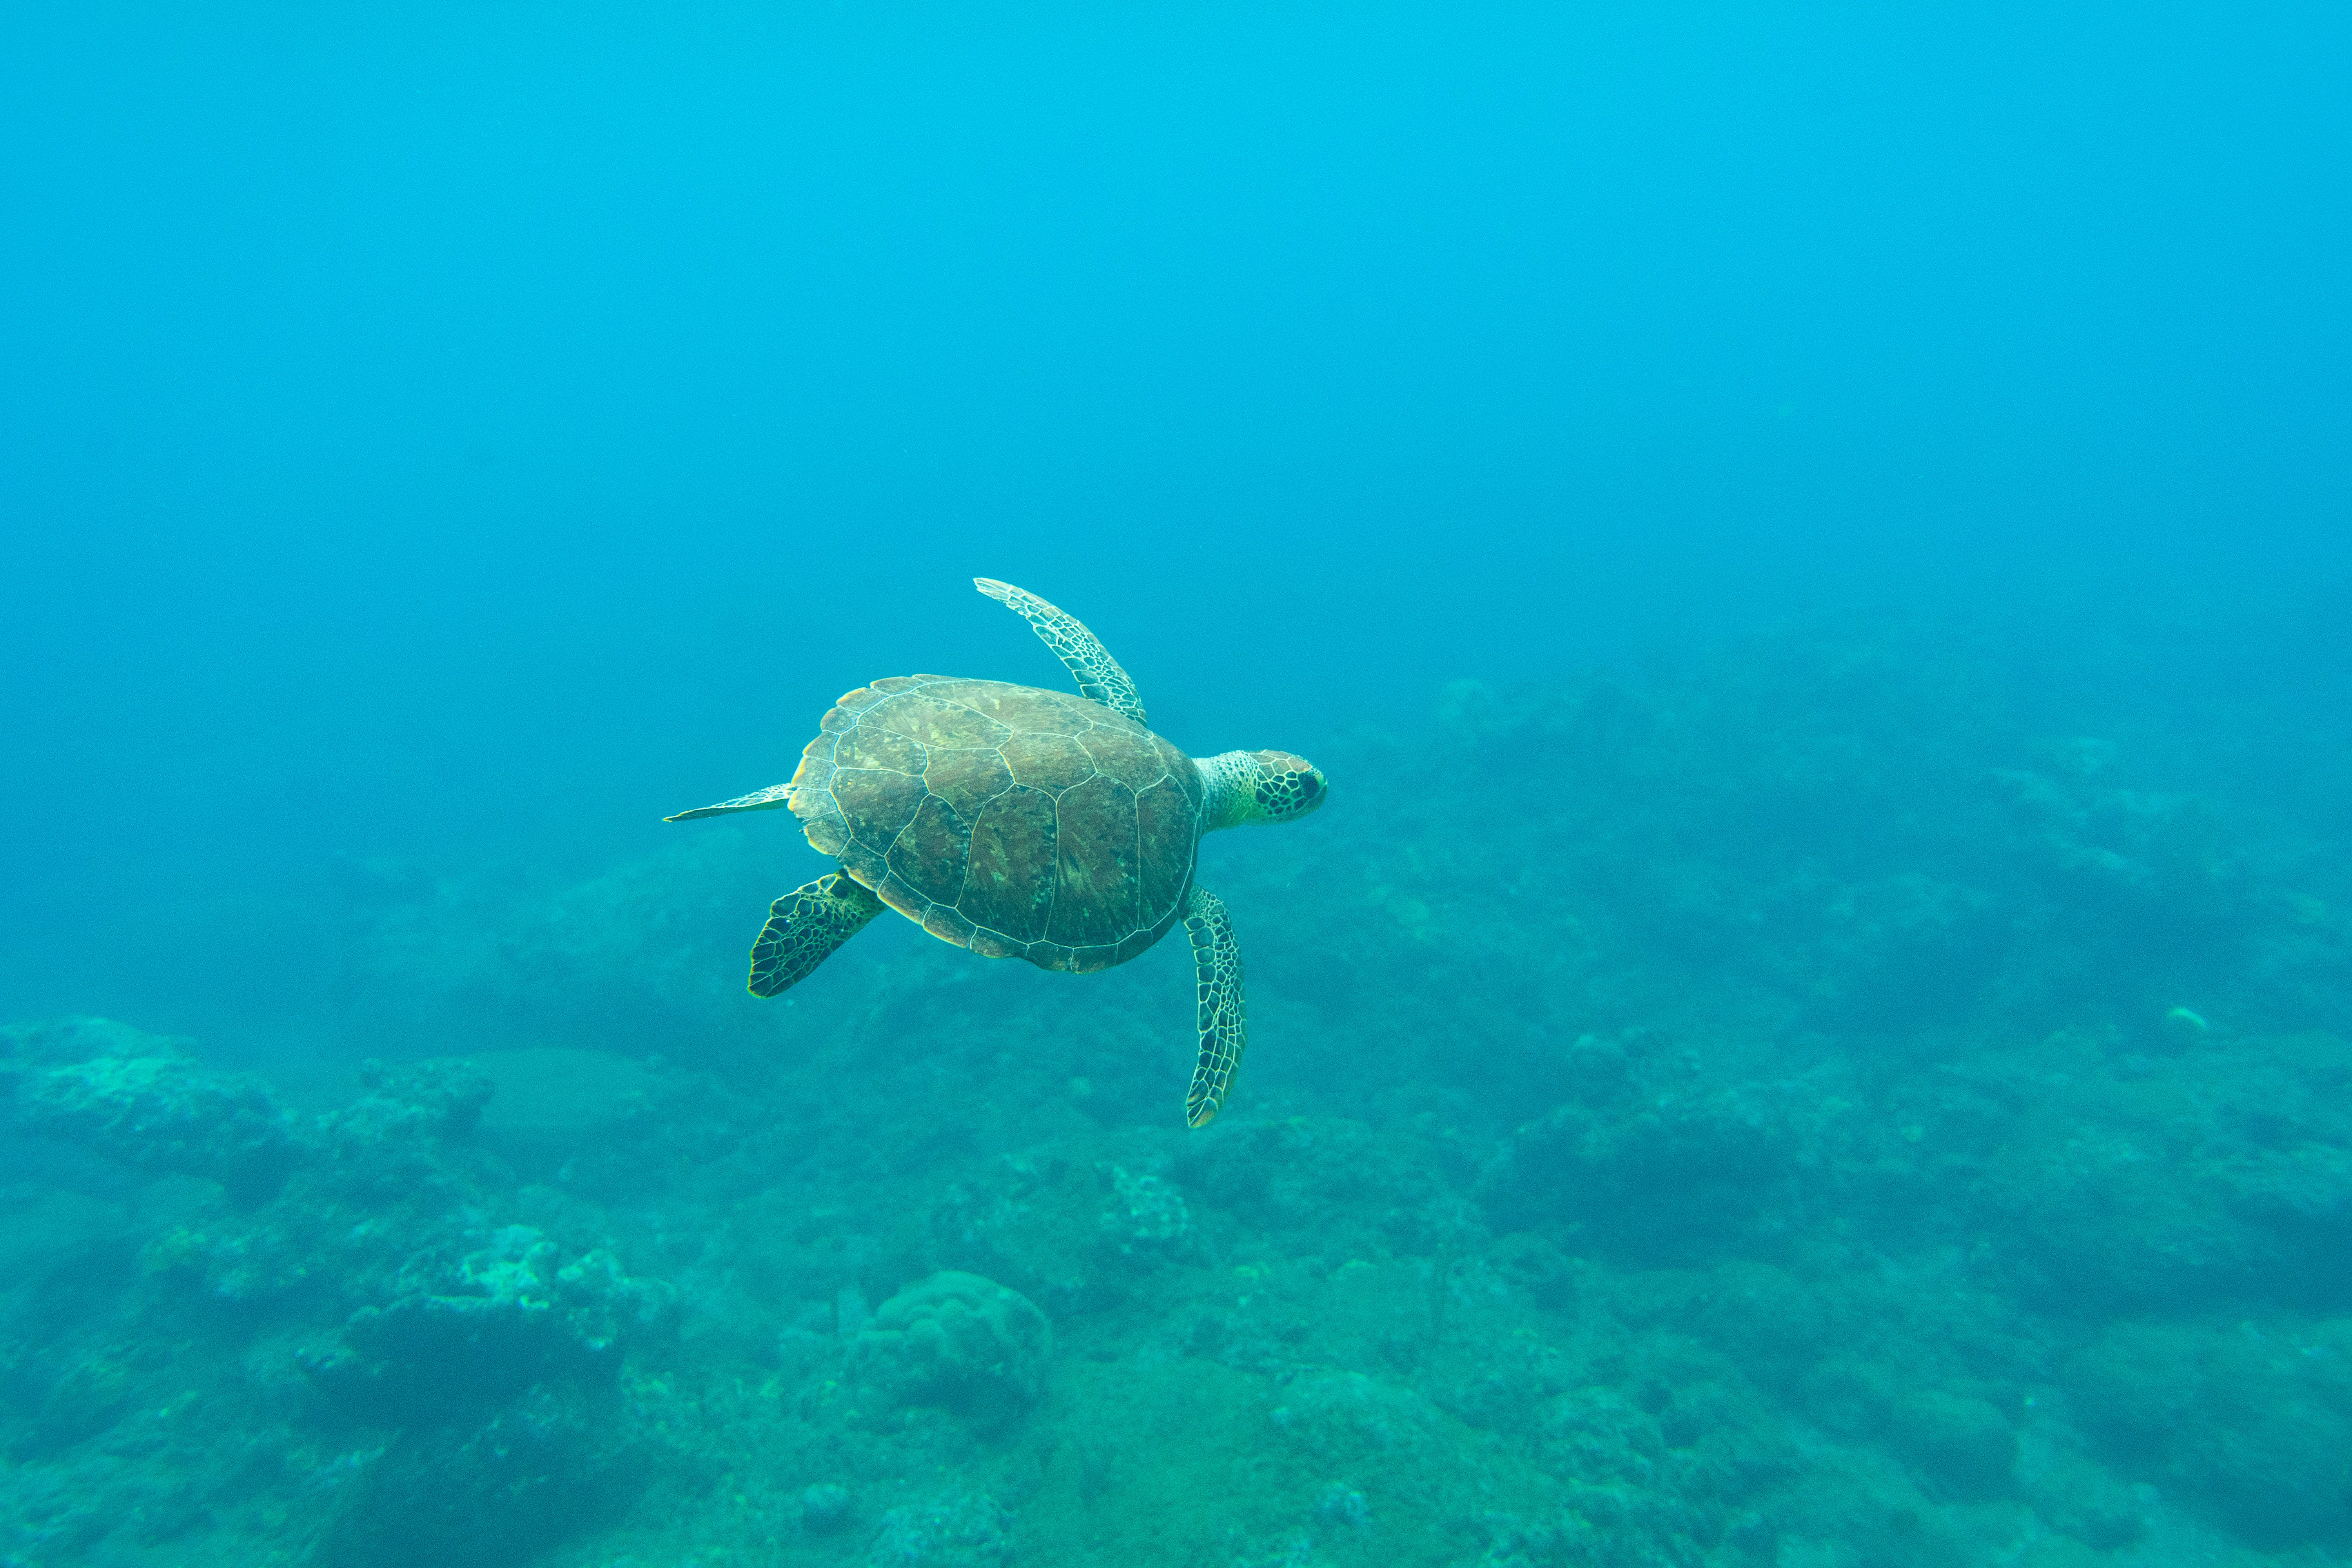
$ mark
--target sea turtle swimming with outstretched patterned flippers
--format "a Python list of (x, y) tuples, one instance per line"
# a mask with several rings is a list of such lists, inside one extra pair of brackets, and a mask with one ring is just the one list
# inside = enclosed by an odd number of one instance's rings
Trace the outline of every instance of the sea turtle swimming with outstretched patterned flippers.
[(670, 823), (790, 806), (842, 870), (779, 898), (750, 950), (750, 994), (800, 985), (889, 905), (990, 959), (1094, 973), (1183, 919), (1200, 978), (1200, 1063), (1185, 1121), (1225, 1103), (1249, 1039), (1242, 950), (1192, 882), (1200, 835), (1296, 823), (1331, 792), (1291, 752), (1185, 757), (1143, 726), (1120, 661), (1033, 592), (971, 578), (1070, 665), (1082, 696), (948, 675), (894, 675), (842, 696), (790, 783)]

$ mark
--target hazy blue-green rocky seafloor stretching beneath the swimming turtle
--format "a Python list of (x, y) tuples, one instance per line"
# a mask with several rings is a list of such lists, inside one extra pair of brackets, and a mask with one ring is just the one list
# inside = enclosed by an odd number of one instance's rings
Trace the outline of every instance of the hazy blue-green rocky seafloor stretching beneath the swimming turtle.
[(1875, 621), (1463, 682), (1204, 846), (1202, 1133), (1181, 940), (757, 1004), (790, 823), (362, 867), (348, 1081), (0, 1034), (0, 1563), (2352, 1561), (2298, 701)]

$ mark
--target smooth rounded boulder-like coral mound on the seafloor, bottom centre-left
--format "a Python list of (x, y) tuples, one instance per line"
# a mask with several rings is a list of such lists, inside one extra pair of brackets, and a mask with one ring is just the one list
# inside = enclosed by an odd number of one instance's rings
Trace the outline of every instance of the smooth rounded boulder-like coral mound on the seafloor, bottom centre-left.
[(1044, 1392), (1054, 1331), (1016, 1291), (978, 1274), (931, 1274), (882, 1302), (858, 1331), (868, 1387), (978, 1425), (1011, 1420)]

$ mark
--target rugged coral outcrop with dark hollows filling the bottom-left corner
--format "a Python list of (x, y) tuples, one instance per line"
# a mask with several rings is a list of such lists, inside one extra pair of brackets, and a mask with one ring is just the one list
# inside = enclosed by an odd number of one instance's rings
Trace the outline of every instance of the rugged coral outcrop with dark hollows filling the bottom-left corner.
[[(242, 1516), (329, 1563), (515, 1561), (635, 1486), (616, 1373), (673, 1291), (496, 1220), (517, 1194), (468, 1147), (477, 1072), (365, 1063), (348, 1105), (301, 1117), (106, 1020), (7, 1039), (26, 1150), (174, 1173), (78, 1244), (96, 1276), (68, 1248), (12, 1302), (16, 1559), (188, 1561), (209, 1528), (240, 1561)], [(280, 1486), (310, 1507), (289, 1519)]]

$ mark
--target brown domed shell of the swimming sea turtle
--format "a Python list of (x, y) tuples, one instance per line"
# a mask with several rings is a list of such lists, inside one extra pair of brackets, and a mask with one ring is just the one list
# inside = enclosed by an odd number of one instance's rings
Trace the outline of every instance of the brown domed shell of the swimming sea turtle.
[(1200, 769), (1082, 696), (896, 675), (842, 696), (793, 773), (821, 853), (931, 936), (1089, 973), (1176, 924)]

